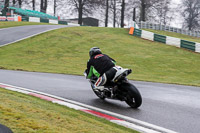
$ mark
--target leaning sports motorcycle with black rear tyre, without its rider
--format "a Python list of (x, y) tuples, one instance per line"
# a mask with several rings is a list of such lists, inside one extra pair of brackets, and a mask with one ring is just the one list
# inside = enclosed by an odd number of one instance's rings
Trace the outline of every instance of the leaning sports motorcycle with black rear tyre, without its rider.
[[(126, 78), (131, 72), (131, 69), (127, 69), (127, 71), (119, 74), (115, 81), (108, 81), (104, 86), (100, 86), (98, 89), (94, 88), (94, 84), (98, 79), (95, 75), (88, 80), (92, 90), (100, 99), (104, 100), (108, 98), (125, 101), (130, 107), (138, 108), (142, 104), (141, 94)], [(84, 72), (84, 75), (87, 77), (86, 72)]]

